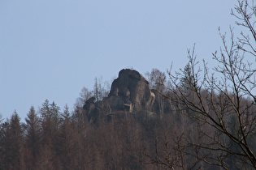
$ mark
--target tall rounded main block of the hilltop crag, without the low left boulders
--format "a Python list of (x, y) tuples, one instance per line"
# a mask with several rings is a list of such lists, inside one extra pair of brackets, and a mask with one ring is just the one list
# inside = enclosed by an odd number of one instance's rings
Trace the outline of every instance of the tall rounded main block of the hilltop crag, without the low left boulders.
[(139, 72), (126, 69), (119, 71), (119, 77), (112, 83), (106, 101), (113, 110), (125, 108), (129, 112), (150, 110), (154, 103), (154, 93), (150, 91), (149, 83)]

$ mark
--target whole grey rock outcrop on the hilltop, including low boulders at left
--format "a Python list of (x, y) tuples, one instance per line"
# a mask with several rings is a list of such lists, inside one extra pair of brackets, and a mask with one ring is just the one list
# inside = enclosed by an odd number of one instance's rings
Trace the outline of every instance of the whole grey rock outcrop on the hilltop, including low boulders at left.
[(141, 110), (151, 111), (155, 100), (150, 85), (137, 70), (124, 69), (111, 85), (111, 91), (105, 99), (95, 102), (92, 97), (84, 105), (89, 119), (106, 113), (137, 113)]

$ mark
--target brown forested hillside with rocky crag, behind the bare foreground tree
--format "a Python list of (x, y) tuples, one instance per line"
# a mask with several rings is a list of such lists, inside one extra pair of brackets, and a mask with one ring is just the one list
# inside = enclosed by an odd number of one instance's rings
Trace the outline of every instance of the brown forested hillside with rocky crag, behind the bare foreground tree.
[[(189, 64), (184, 68), (186, 76), (180, 89), (192, 97), (191, 83), (186, 79), (191, 76), (189, 68)], [(13, 113), (10, 120), (1, 122), (1, 168), (216, 169), (222, 167), (219, 159), (227, 168), (245, 166), (235, 155), (215, 146), (221, 141), (225, 147), (239, 151), (236, 142), (215, 126), (198, 121), (197, 111), (181, 104), (182, 100), (170, 100), (177, 96), (164, 87), (167, 81), (163, 72), (154, 69), (146, 75), (150, 83), (136, 70), (121, 70), (107, 96), (100, 95), (106, 89), (95, 82), (93, 91), (81, 91), (72, 112), (67, 106), (62, 111), (46, 100), (37, 111), (30, 108), (25, 123)], [(204, 100), (212, 96), (207, 93), (202, 91)], [(236, 135), (236, 117), (228, 108), (232, 105), (223, 94), (214, 97), (216, 102), (226, 102), (223, 115), (227, 112), (230, 116), (223, 117), (223, 121), (227, 121), (228, 132)], [(256, 116), (251, 100), (243, 98), (241, 104), (246, 115)], [(253, 150), (255, 137), (248, 137)], [(215, 138), (217, 143), (208, 138)]]

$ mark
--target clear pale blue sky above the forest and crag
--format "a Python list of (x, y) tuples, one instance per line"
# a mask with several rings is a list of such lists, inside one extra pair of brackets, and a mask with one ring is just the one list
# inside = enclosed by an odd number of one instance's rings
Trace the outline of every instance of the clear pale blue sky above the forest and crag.
[(21, 119), (48, 99), (73, 108), (94, 79), (184, 68), (187, 49), (211, 66), (221, 32), (235, 26), (233, 0), (2, 0), (0, 114)]

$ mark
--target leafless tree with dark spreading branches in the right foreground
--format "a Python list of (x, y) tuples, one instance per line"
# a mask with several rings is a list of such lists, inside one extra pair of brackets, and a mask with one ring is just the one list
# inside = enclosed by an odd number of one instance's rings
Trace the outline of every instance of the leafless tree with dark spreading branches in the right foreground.
[[(241, 32), (236, 40), (231, 28), (228, 44), (226, 34), (220, 33), (223, 47), (213, 53), (218, 63), (214, 74), (210, 74), (205, 62), (203, 70), (198, 67), (194, 49), (188, 51), (185, 71), (168, 72), (172, 96), (167, 99), (176, 103), (180, 113), (197, 120), (197, 140), (184, 138), (190, 149), (186, 153), (226, 169), (256, 168), (256, 70), (249, 59), (245, 60), (256, 56), (255, 9), (253, 1), (238, 1), (232, 15), (238, 19), (237, 25), (247, 28), (250, 34)], [(189, 84), (189, 95), (184, 92), (184, 83)]]

